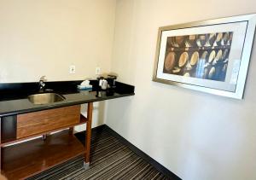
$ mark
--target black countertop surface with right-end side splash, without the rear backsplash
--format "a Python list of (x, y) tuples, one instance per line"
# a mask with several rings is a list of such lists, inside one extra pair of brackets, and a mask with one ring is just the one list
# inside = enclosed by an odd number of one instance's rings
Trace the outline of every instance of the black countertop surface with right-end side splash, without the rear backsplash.
[[(1, 84), (0, 84), (1, 85)], [(1, 92), (1, 87), (0, 87)], [(101, 97), (96, 97), (96, 91), (88, 91), (88, 90), (69, 90), (65, 91), (65, 93), (61, 93), (60, 91), (55, 91), (56, 93), (60, 93), (65, 97), (65, 100), (62, 102), (54, 102), (50, 104), (44, 105), (36, 105), (29, 102), (27, 96), (25, 94), (15, 94), (9, 96), (8, 98), (0, 99), (0, 117), (10, 116), (20, 113), (30, 113), (35, 111), (41, 111), (45, 109), (51, 109), (56, 107), (67, 107), (77, 104), (84, 104), (88, 102), (100, 102), (108, 99), (114, 99), (124, 96), (133, 96), (134, 95), (134, 86), (129, 84), (117, 83), (117, 88), (113, 93), (113, 96), (107, 96), (105, 91), (102, 92)], [(29, 94), (29, 93), (28, 93)]]

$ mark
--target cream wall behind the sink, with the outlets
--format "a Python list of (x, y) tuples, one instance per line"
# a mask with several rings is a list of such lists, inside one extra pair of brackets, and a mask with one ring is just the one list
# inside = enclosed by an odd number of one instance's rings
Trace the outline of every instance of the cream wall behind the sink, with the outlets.
[(114, 15), (115, 0), (0, 0), (0, 83), (109, 72)]

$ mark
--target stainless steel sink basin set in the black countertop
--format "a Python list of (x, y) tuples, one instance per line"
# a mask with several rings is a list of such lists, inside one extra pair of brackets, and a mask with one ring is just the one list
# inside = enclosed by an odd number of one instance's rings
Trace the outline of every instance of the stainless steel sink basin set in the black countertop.
[(42, 93), (27, 96), (28, 100), (33, 104), (49, 104), (53, 102), (62, 102), (65, 97), (55, 93)]

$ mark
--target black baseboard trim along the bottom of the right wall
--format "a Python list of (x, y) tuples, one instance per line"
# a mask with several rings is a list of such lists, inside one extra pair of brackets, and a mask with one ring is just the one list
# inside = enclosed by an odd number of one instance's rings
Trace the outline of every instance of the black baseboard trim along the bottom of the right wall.
[(127, 141), (123, 136), (120, 136), (119, 133), (116, 131), (113, 131), (108, 125), (100, 125), (96, 128), (94, 128), (95, 131), (100, 130), (104, 128), (109, 133), (111, 133), (113, 136), (115, 136), (117, 139), (119, 139), (120, 142), (124, 143), (128, 148), (130, 148), (135, 154), (139, 155), (143, 158), (143, 160), (146, 160), (149, 164), (153, 165), (158, 171), (165, 174), (166, 177), (170, 177), (173, 180), (181, 180), (180, 177), (177, 177), (176, 174), (174, 174), (172, 171), (169, 171), (165, 166), (161, 165), (159, 162), (151, 158), (148, 154), (145, 154), (141, 149), (134, 146), (131, 142)]

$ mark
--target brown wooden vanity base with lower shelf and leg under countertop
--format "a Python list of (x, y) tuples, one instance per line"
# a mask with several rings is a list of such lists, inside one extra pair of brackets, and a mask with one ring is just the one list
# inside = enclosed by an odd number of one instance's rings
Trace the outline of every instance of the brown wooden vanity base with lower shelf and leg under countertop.
[[(79, 155), (89, 164), (92, 107), (89, 102), (87, 118), (80, 114), (80, 105), (1, 118), (1, 173), (9, 179), (25, 179)], [(73, 127), (85, 123), (84, 147), (73, 135)], [(20, 142), (50, 133), (45, 140)]]

